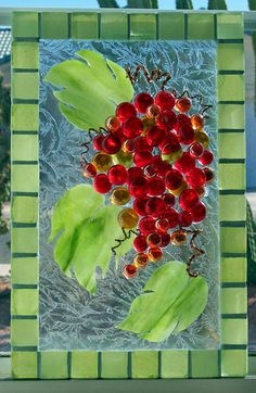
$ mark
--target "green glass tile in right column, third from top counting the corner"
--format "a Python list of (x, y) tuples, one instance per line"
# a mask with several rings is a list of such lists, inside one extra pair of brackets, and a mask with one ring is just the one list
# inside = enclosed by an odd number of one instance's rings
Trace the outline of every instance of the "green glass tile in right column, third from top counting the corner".
[(244, 101), (244, 75), (218, 75), (219, 101)]

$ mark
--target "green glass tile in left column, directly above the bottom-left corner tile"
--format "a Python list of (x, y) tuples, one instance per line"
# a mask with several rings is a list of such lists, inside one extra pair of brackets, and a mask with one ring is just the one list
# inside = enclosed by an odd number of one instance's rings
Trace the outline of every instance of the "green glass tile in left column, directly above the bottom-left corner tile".
[(37, 319), (12, 319), (11, 341), (13, 346), (37, 346), (38, 345), (38, 320)]

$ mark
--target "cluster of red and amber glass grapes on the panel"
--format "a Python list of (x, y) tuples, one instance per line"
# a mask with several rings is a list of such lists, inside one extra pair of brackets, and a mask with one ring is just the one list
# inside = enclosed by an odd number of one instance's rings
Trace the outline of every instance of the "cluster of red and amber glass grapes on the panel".
[(214, 178), (207, 166), (214, 157), (203, 116), (187, 114), (191, 106), (188, 97), (159, 91), (153, 98), (142, 92), (133, 103), (120, 103), (105, 122), (106, 135), (93, 139), (98, 152), (84, 166), (84, 176), (93, 178), (95, 191), (111, 192), (115, 205), (132, 199), (132, 207), (118, 215), (124, 229), (139, 230), (133, 241), (138, 254), (125, 266), (126, 278), (135, 277), (149, 261), (159, 261), (169, 243), (183, 244), (182, 228), (206, 216), (201, 198)]

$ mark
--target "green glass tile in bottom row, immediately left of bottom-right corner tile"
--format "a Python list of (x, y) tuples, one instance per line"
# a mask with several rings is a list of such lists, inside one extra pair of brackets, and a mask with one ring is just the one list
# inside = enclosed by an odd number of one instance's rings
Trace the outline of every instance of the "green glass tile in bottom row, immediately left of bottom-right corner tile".
[(219, 377), (218, 351), (191, 351), (191, 377), (215, 378)]

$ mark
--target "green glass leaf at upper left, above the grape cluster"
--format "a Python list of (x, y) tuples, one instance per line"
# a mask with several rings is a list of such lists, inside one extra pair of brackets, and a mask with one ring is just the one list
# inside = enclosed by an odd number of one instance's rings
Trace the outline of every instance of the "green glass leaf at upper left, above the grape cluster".
[(57, 87), (54, 96), (67, 121), (76, 127), (103, 127), (123, 101), (130, 101), (133, 88), (126, 71), (100, 53), (81, 50), (79, 59), (54, 65), (44, 81)]

